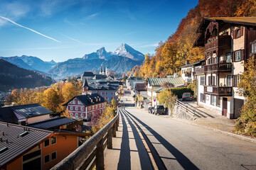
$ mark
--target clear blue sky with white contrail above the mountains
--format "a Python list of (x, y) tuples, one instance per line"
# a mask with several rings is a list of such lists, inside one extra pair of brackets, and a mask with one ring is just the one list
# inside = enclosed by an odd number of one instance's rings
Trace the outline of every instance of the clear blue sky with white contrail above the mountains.
[(197, 0), (0, 0), (0, 56), (63, 62), (127, 43), (154, 53)]

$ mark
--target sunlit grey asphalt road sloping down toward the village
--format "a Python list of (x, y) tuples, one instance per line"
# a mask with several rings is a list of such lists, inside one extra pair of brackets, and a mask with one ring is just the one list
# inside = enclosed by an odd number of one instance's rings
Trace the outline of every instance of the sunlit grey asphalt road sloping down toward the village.
[(125, 116), (134, 120), (166, 169), (256, 169), (256, 144), (230, 135), (152, 115), (134, 108), (125, 94)]

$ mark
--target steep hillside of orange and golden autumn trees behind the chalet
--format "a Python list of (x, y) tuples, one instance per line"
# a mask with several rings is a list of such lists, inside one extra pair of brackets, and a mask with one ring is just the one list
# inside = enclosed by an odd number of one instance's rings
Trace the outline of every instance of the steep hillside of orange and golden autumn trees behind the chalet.
[(178, 72), (186, 60), (196, 62), (203, 59), (204, 48), (194, 47), (198, 28), (203, 17), (211, 16), (255, 16), (256, 0), (199, 0), (181, 20), (176, 32), (165, 42), (160, 42), (154, 56), (145, 55), (142, 67), (131, 70), (135, 76), (164, 77)]

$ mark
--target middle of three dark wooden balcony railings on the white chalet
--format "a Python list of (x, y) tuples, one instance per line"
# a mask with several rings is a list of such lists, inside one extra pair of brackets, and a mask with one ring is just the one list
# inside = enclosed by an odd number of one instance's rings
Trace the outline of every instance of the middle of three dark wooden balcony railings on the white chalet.
[(205, 65), (204, 72), (232, 72), (232, 63), (217, 63)]

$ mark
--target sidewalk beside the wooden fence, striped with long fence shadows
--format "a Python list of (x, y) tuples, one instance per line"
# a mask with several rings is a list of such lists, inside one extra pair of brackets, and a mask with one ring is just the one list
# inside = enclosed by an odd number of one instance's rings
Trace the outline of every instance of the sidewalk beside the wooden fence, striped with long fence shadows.
[(149, 149), (132, 120), (120, 111), (113, 148), (105, 149), (105, 169), (153, 169)]

